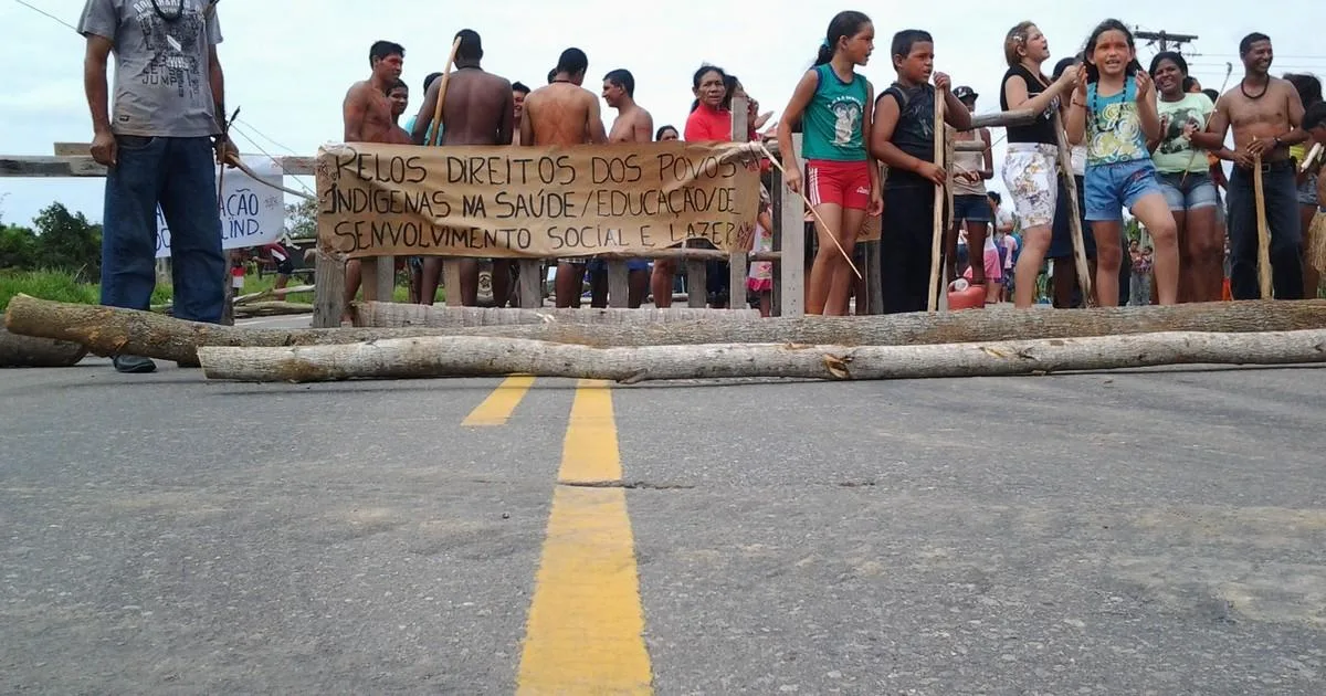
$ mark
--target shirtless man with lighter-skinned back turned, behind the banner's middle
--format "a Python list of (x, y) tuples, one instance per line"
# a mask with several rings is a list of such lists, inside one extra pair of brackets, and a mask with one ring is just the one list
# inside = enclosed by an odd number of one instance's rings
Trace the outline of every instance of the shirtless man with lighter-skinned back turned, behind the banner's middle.
[[(581, 87), (589, 57), (578, 48), (562, 52), (548, 86), (525, 98), (520, 121), (520, 145), (606, 143), (607, 133), (598, 110), (598, 97)], [(579, 306), (586, 259), (561, 259), (557, 264), (557, 306)]]

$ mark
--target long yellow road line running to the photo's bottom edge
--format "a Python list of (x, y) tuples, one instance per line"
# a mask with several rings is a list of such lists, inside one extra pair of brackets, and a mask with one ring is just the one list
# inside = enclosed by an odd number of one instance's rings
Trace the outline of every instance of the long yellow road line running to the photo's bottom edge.
[(652, 693), (635, 540), (606, 382), (581, 380), (525, 626), (517, 693)]

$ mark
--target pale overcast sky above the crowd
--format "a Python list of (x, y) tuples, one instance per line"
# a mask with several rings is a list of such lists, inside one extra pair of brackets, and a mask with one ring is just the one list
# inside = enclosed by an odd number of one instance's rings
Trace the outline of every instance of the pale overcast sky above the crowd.
[[(76, 25), (84, 0), (28, 0)], [(568, 46), (589, 54), (585, 86), (598, 91), (603, 73), (626, 68), (635, 74), (636, 101), (655, 125), (684, 123), (691, 105), (691, 74), (701, 62), (721, 65), (741, 78), (761, 110), (782, 110), (790, 89), (809, 66), (834, 11), (821, 3), (740, 3), (736, 0), (655, 0), (619, 3), (575, 0), (501, 0), (439, 3), (436, 0), (224, 0), (219, 7), (221, 64), (227, 103), (243, 107), (236, 142), (245, 154), (314, 155), (341, 137), (341, 101), (346, 87), (369, 74), (369, 45), (378, 38), (406, 46), (403, 78), (411, 86), (410, 111), (418, 107), (420, 84), (440, 70), (457, 29), (477, 30), (484, 40), (484, 68), (532, 87)], [(1109, 8), (1109, 13), (1102, 11)], [(574, 9), (572, 9), (574, 8)], [(894, 80), (888, 42), (904, 28), (930, 30), (936, 41), (936, 69), (956, 85), (980, 93), (977, 111), (998, 110), (998, 81), (1005, 70), (1002, 42), (1021, 20), (1046, 33), (1053, 61), (1077, 52), (1091, 28), (1107, 16), (1147, 30), (1197, 34), (1183, 46), (1192, 74), (1219, 89), (1225, 64), (1238, 62), (1238, 40), (1248, 32), (1270, 34), (1276, 74), (1326, 74), (1326, 3), (1262, 0), (1236, 3), (1095, 3), (949, 0), (857, 5), (875, 20), (875, 54), (862, 72), (876, 91)], [(1292, 11), (1293, 8), (1293, 11)], [(887, 9), (887, 13), (884, 12)], [(53, 142), (88, 142), (91, 121), (82, 90), (84, 40), (69, 27), (0, 0), (0, 152), (50, 155)], [(1146, 64), (1155, 46), (1139, 46)], [(610, 123), (613, 111), (605, 106)], [(402, 122), (404, 118), (402, 118)], [(248, 135), (252, 142), (243, 135)], [(994, 138), (1002, 137), (1001, 130)], [(260, 150), (261, 148), (261, 150)], [(996, 171), (1002, 148), (996, 147)], [(296, 179), (288, 184), (300, 188)], [(305, 180), (312, 187), (312, 180)], [(996, 175), (993, 187), (1002, 190)], [(7, 223), (28, 223), (52, 200), (61, 200), (101, 220), (99, 179), (0, 179), (0, 211)]]

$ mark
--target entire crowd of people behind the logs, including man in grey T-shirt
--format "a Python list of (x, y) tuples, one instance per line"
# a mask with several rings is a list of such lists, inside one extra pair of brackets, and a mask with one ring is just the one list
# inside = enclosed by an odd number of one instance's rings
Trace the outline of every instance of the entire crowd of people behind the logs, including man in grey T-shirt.
[[(215, 167), (233, 164), (237, 151), (227, 137), (216, 1), (159, 5), (86, 0), (77, 30), (86, 38), (84, 85), (94, 129), (91, 156), (107, 167), (102, 302), (149, 306), (155, 285), (154, 211), (159, 205), (171, 228), (175, 316), (219, 322), (227, 264)], [(878, 93), (857, 72), (870, 60), (874, 36), (866, 15), (834, 16), (814, 68), (798, 81), (777, 129), (780, 143), (792, 142), (793, 129), (804, 135), (802, 150), (782, 147), (782, 159), (790, 172), (788, 184), (806, 192), (818, 220), (808, 302), (817, 314), (847, 312), (854, 284), (846, 259), (853, 256), (869, 215), (882, 215), (884, 312), (926, 309), (934, 192), (948, 182), (948, 171), (934, 156), (936, 99), (944, 99), (948, 127), (972, 130), (975, 93), (951, 89), (949, 77), (934, 70), (930, 33), (904, 29), (894, 34), (890, 60), (896, 78)], [(404, 49), (375, 42), (369, 52), (369, 80), (346, 94), (345, 141), (487, 146), (732, 139), (731, 103), (743, 89), (716, 66), (695, 73), (696, 101), (684, 133), (678, 133), (671, 126), (654, 129), (648, 111), (634, 102), (634, 78), (627, 70), (609, 72), (602, 94), (583, 89), (589, 61), (579, 49), (562, 52), (548, 85), (530, 90), (481, 69), (477, 33), (467, 29), (456, 37), (455, 72), (446, 80), (430, 76), (419, 115), (406, 127), (396, 125), (408, 103), (408, 87), (400, 82)], [(1037, 27), (1021, 23), (1008, 32), (1000, 107), (1037, 114), (1032, 123), (1006, 129), (1009, 146), (1001, 171), (1022, 227), (1022, 248), (1013, 268), (1017, 306), (1032, 304), (1045, 259), (1065, 259), (1069, 249), (1065, 236), (1055, 235), (1055, 229), (1067, 228), (1057, 220), (1067, 220), (1073, 212), (1059, 204), (1066, 198), (1055, 174), (1061, 134), (1073, 146), (1081, 202), (1077, 213), (1091, 231), (1086, 253), (1094, 261), (1098, 304), (1118, 304), (1124, 208), (1152, 239), (1160, 304), (1216, 300), (1225, 274), (1235, 300), (1258, 297), (1254, 170), (1264, 180), (1274, 296), (1301, 298), (1317, 290), (1318, 274), (1303, 264), (1303, 228), (1322, 211), (1326, 178), (1315, 175), (1319, 164), (1305, 167), (1309, 163), (1303, 160), (1310, 152), (1309, 138), (1326, 142), (1321, 84), (1310, 76), (1272, 77), (1272, 42), (1265, 34), (1248, 34), (1238, 52), (1244, 76), (1237, 86), (1224, 94), (1199, 94), (1181, 56), (1162, 53), (1150, 70), (1142, 69), (1132, 33), (1116, 20), (1097, 27), (1081, 56), (1059, 61), (1053, 78), (1042, 70), (1050, 53)], [(110, 85), (113, 53), (117, 69)], [(167, 65), (170, 80), (162, 77)], [(443, 117), (435, 125), (432, 111), (443, 84)], [(599, 95), (618, 110), (611, 129), (601, 121)], [(749, 139), (757, 138), (768, 118), (752, 109)], [(1227, 148), (1231, 129), (1235, 147)], [(988, 141), (988, 134), (977, 137)], [(804, 176), (798, 158), (806, 160)], [(1223, 180), (1221, 160), (1233, 163), (1228, 182)], [(882, 176), (876, 163), (887, 166), (888, 174)], [(980, 182), (993, 178), (993, 163), (983, 159), (964, 168), (957, 180), (971, 190), (957, 191), (967, 200), (955, 212), (975, 223), (965, 225), (969, 248), (984, 251), (985, 209), (968, 196)], [(1221, 186), (1228, 192), (1227, 208), (1220, 204)], [(756, 235), (761, 245), (768, 244), (772, 228), (766, 192), (762, 200)], [(1228, 273), (1221, 268), (1225, 228)], [(977, 253), (971, 253), (973, 260)], [(414, 292), (419, 301), (434, 296), (439, 261), (420, 264)], [(495, 264), (493, 290), (505, 298), (512, 277), (501, 265)], [(578, 304), (587, 265), (581, 259), (560, 261), (558, 305)], [(1062, 264), (1066, 269), (1071, 265)], [(351, 262), (349, 293), (358, 285), (358, 270)], [(651, 269), (633, 265), (631, 305), (638, 306), (648, 285), (655, 302), (667, 306), (675, 270), (675, 262), (666, 260)], [(1002, 274), (1008, 268), (1000, 270)], [(725, 276), (711, 273), (719, 284)], [(988, 282), (991, 276), (988, 264), (972, 264), (972, 282)], [(463, 300), (472, 304), (477, 273), (463, 266), (461, 278)], [(752, 268), (751, 289), (768, 292), (769, 281), (766, 264)], [(728, 289), (732, 294), (740, 290)], [(151, 361), (134, 355), (117, 355), (114, 365), (123, 373), (155, 369)]]

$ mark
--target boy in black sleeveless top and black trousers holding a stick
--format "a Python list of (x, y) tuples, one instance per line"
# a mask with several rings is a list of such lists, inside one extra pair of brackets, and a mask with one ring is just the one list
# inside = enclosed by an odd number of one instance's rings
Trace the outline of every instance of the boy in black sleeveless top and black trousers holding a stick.
[(920, 29), (894, 34), (891, 48), (898, 81), (875, 99), (870, 154), (888, 166), (884, 180), (883, 232), (879, 240), (884, 313), (926, 312), (934, 243), (935, 187), (948, 172), (935, 164), (935, 95), (944, 97), (944, 122), (969, 130), (972, 117), (948, 91), (949, 78), (934, 73), (935, 41)]

